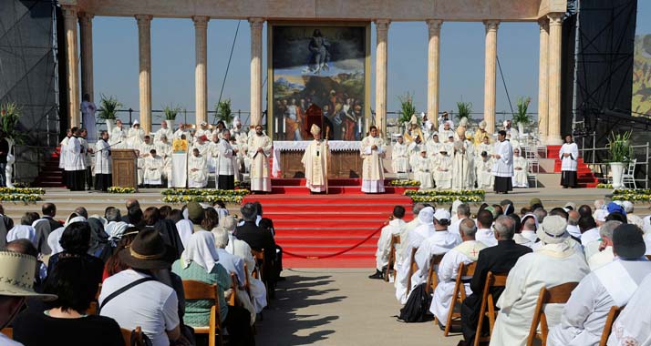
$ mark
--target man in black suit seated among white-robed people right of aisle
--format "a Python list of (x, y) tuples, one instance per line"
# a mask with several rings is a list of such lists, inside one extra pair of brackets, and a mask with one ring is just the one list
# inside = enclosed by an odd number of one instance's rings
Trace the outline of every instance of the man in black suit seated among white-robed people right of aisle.
[[(471, 345), (475, 338), (481, 308), (481, 296), (489, 271), (508, 273), (522, 255), (532, 252), (532, 249), (518, 245), (513, 241), (515, 224), (511, 218), (504, 215), (497, 218), (493, 229), (498, 244), (480, 251), (475, 274), (470, 280), (472, 294), (466, 300), (463, 300), (461, 305), (461, 328), (465, 345)], [(500, 298), (502, 291), (503, 288), (491, 290), (494, 302), (497, 302)], [(460, 345), (462, 344), (464, 343), (460, 342)]]

